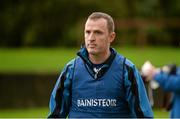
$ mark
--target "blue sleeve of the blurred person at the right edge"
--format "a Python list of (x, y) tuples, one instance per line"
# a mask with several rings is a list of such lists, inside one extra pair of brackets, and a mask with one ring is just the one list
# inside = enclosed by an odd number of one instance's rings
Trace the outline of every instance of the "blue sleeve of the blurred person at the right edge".
[(180, 92), (180, 75), (160, 72), (154, 76), (154, 79), (165, 91)]

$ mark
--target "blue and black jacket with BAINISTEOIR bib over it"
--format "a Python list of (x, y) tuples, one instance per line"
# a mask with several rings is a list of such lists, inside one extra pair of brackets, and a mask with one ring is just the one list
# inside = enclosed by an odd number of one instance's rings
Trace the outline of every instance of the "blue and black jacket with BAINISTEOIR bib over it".
[(153, 117), (141, 76), (114, 49), (97, 70), (85, 48), (62, 71), (50, 99), (49, 117)]

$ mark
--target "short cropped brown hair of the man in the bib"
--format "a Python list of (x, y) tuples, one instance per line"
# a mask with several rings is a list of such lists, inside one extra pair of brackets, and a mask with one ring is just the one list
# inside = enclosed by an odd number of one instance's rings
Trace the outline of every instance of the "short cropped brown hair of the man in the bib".
[(103, 12), (93, 12), (91, 15), (89, 15), (88, 19), (92, 19), (92, 20), (96, 20), (96, 19), (100, 19), (103, 18), (107, 21), (107, 27), (109, 32), (114, 32), (115, 26), (114, 26), (114, 21), (113, 18)]

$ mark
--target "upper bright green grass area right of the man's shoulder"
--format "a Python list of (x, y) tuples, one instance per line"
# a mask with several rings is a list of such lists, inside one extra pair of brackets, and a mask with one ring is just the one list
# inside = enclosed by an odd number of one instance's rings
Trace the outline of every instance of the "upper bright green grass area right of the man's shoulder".
[(157, 67), (168, 63), (180, 65), (180, 48), (172, 47), (145, 47), (123, 48), (118, 51), (129, 58), (137, 67), (141, 67), (146, 60)]

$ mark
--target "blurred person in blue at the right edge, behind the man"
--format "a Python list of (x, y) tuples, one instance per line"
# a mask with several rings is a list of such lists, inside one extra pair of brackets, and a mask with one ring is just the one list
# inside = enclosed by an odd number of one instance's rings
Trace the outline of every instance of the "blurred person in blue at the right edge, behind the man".
[(149, 62), (145, 75), (147, 80), (157, 81), (164, 91), (172, 92), (172, 100), (167, 110), (171, 110), (171, 118), (180, 118), (180, 67), (170, 64), (159, 69)]

